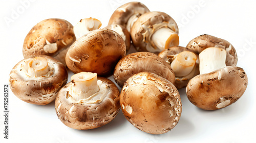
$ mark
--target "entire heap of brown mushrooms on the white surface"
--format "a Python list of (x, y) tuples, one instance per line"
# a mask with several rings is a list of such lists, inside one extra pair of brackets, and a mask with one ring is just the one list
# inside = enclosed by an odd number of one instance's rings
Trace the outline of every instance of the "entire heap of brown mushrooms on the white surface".
[[(245, 92), (247, 75), (224, 39), (205, 34), (179, 46), (175, 20), (139, 2), (120, 6), (101, 25), (92, 17), (74, 27), (58, 18), (37, 23), (24, 40), (25, 59), (9, 75), (15, 96), (37, 105), (55, 100), (59, 120), (73, 129), (108, 124), (121, 108), (136, 128), (162, 134), (180, 120), (178, 89), (186, 87), (189, 101), (205, 110), (224, 108)], [(127, 54), (132, 47), (138, 52)], [(121, 93), (106, 78), (112, 75)]]

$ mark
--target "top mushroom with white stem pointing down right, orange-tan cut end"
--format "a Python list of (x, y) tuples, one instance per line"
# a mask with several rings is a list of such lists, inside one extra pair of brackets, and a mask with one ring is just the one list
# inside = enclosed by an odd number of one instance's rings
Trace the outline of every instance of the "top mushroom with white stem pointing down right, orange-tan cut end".
[(179, 45), (179, 30), (175, 20), (164, 12), (142, 14), (131, 29), (132, 41), (137, 51), (159, 53)]

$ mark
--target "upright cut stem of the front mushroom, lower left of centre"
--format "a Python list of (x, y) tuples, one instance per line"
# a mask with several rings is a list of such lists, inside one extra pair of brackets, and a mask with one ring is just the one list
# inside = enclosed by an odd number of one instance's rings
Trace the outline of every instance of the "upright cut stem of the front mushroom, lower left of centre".
[(87, 99), (99, 91), (97, 84), (97, 74), (81, 72), (71, 77), (73, 86), (71, 86), (70, 94), (76, 101)]

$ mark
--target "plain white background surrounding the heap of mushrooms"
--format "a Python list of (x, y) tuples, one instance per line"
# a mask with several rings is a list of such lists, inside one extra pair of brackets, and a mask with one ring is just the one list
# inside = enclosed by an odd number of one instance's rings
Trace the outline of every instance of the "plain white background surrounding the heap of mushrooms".
[[(4, 84), (8, 83), (10, 70), (23, 59), (24, 38), (37, 22), (47, 18), (62, 18), (75, 25), (81, 18), (93, 17), (101, 20), (103, 28), (108, 25), (117, 7), (130, 2), (31, 0), (24, 5), (21, 3), (24, 1), (0, 2), (1, 92)], [(224, 109), (205, 111), (191, 104), (186, 98), (185, 89), (181, 89), (182, 115), (179, 123), (168, 133), (151, 135), (132, 126), (122, 112), (103, 127), (85, 131), (71, 129), (58, 120), (54, 102), (46, 106), (28, 104), (9, 90), (9, 139), (4, 139), (3, 135), (1, 96), (0, 142), (254, 142), (255, 1), (140, 2), (151, 11), (165, 12), (176, 20), (181, 46), (186, 46), (191, 39), (201, 34), (220, 37), (232, 43), (238, 52), (237, 66), (242, 67), (248, 76), (249, 83), (244, 95)], [(69, 78), (71, 75), (69, 73)]]

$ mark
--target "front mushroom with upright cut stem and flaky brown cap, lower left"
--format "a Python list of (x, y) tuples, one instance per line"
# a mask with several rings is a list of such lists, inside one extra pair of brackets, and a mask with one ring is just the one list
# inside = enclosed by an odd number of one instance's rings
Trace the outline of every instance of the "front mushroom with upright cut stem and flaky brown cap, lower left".
[(66, 126), (88, 130), (111, 122), (120, 110), (119, 90), (109, 79), (81, 72), (58, 92), (55, 111)]

